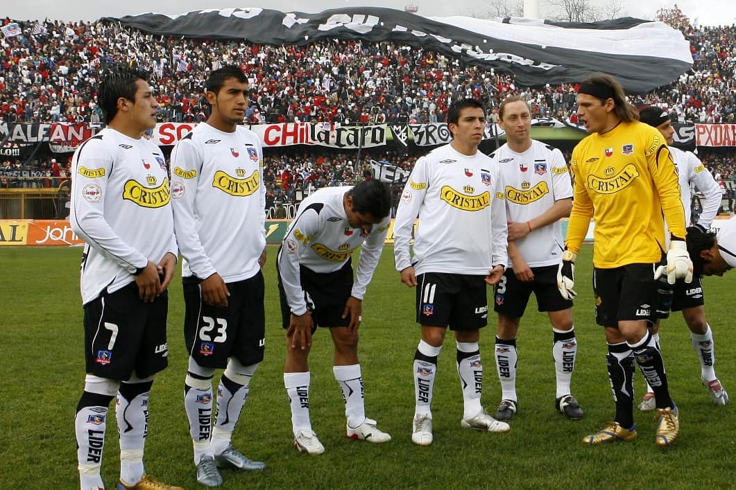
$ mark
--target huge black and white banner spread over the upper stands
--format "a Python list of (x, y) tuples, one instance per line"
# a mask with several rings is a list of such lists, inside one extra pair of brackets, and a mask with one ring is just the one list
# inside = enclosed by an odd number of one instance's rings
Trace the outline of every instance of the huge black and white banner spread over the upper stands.
[(522, 86), (579, 82), (592, 71), (603, 71), (618, 77), (629, 92), (643, 93), (672, 82), (693, 64), (690, 43), (681, 32), (662, 22), (634, 18), (583, 24), (526, 18), (426, 18), (380, 7), (319, 13), (252, 7), (101, 20), (156, 35), (246, 39), (272, 46), (334, 38), (391, 40), (511, 72)]

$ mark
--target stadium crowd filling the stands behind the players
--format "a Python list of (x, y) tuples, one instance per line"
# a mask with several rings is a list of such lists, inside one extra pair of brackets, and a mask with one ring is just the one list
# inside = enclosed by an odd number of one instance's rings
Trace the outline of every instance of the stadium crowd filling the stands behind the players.
[[(574, 113), (572, 85), (524, 88), (508, 74), (465, 65), (442, 54), (397, 43), (328, 40), (306, 46), (261, 46), (237, 40), (194, 40), (146, 35), (102, 22), (13, 21), (22, 34), (0, 38), (0, 118), (5, 122), (102, 121), (96, 103), (99, 73), (127, 61), (152, 73), (160, 121), (198, 122), (207, 116), (204, 80), (224, 64), (239, 64), (250, 77), (247, 121), (330, 121), (343, 124), (444, 121), (447, 104), (473, 96), (490, 118), (509, 94), (531, 103), (534, 117), (566, 119)], [(736, 26), (676, 24), (690, 41), (693, 68), (670, 85), (633, 96), (634, 104), (659, 104), (679, 122), (736, 122)], [(330, 153), (330, 152), (328, 152)], [(406, 149), (389, 155), (364, 152), (411, 168)], [(46, 187), (64, 177), (68, 155), (57, 163), (40, 155), (22, 166), (0, 160), (0, 187)], [(736, 157), (719, 150), (698, 155), (723, 182), (736, 180)], [(266, 152), (266, 182), (275, 200), (292, 199), (297, 188), (353, 182), (364, 175), (354, 155)], [(357, 162), (357, 160), (355, 160)], [(36, 177), (29, 179), (27, 177)], [(38, 178), (43, 177), (43, 178)], [(732, 197), (732, 196), (731, 196)]]

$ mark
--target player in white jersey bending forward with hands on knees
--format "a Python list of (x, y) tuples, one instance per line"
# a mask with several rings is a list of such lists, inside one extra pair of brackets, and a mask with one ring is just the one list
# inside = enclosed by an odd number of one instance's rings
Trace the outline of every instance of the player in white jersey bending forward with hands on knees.
[[(390, 213), (389, 188), (378, 180), (323, 188), (302, 201), (284, 235), (276, 263), (286, 329), (283, 384), (291, 405), (294, 447), (300, 452), (325, 452), (309, 419), (307, 359), (317, 327), (328, 327), (335, 345), (333, 374), (345, 402), (345, 435), (369, 442), (391, 440), (366, 417), (358, 363), (363, 296), (381, 258)], [(361, 246), (353, 282), (351, 256)]]

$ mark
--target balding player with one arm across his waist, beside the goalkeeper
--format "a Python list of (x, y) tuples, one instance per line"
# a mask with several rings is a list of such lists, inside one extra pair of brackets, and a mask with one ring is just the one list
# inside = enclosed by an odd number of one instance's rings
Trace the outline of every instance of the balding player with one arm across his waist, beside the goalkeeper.
[(516, 367), (521, 317), (531, 293), (539, 311), (552, 324), (552, 358), (555, 367), (555, 407), (568, 419), (579, 420), (583, 411), (570, 391), (578, 344), (573, 328), (573, 302), (557, 289), (562, 262), (562, 225), (573, 207), (573, 185), (565, 157), (559, 149), (531, 139), (531, 113), (519, 96), (501, 102), (498, 124), (506, 144), (490, 157), (500, 168), (506, 196), (511, 266), (495, 285), (498, 313), (495, 359), (501, 384), (498, 420), (511, 420), (517, 412)]

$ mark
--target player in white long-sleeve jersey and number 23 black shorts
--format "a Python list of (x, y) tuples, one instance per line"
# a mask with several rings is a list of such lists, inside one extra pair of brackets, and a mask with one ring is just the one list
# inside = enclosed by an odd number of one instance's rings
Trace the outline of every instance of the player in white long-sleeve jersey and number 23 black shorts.
[[(222, 485), (217, 466), (266, 467), (231, 444), (251, 377), (263, 361), (266, 188), (261, 141), (238, 126), (248, 107), (247, 77), (225, 66), (210, 74), (206, 90), (207, 122), (171, 153), (171, 206), (183, 257), (184, 407), (197, 481), (213, 487)], [(224, 372), (210, 431), (215, 369)]]

